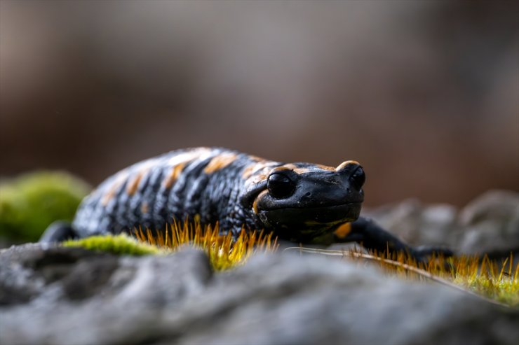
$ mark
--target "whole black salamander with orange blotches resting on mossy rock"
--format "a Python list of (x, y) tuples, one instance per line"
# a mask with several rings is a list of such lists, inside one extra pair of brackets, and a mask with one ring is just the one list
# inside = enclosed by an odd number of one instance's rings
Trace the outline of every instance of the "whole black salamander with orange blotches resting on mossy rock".
[(224, 148), (175, 150), (107, 178), (79, 206), (72, 224), (50, 225), (40, 241), (163, 229), (173, 218), (220, 223), (222, 232), (274, 232), (309, 244), (356, 241), (366, 248), (407, 251), (416, 258), (442, 248), (414, 248), (366, 218), (363, 168), (273, 162)]

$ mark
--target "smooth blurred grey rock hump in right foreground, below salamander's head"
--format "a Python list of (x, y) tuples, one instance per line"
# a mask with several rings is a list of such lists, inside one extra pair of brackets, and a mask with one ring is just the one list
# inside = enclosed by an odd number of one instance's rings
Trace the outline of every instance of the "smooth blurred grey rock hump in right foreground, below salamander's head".
[[(187, 330), (177, 339), (180, 344), (513, 344), (519, 339), (517, 311), (319, 256), (253, 258), (217, 276), (215, 285), (181, 310), (172, 318)], [(511, 333), (501, 333), (505, 329)]]

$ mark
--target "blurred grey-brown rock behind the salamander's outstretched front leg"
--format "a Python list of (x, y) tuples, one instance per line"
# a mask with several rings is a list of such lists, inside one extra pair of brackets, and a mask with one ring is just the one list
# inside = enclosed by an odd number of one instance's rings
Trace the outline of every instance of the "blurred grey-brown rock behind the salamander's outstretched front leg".
[(464, 209), (416, 199), (365, 210), (385, 229), (414, 245), (440, 245), (457, 253), (506, 257), (519, 251), (519, 193), (491, 190)]

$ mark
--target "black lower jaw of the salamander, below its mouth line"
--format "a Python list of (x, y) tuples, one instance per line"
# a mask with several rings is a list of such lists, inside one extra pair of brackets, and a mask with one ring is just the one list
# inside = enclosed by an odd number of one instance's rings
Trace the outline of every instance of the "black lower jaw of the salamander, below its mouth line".
[(346, 204), (262, 210), (258, 216), (271, 227), (323, 227), (356, 220), (361, 202)]

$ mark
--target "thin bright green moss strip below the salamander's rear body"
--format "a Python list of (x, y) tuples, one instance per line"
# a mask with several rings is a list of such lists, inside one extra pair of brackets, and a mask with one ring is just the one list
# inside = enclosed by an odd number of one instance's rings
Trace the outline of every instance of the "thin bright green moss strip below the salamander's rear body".
[(104, 251), (116, 255), (151, 255), (165, 253), (156, 246), (144, 244), (126, 234), (93, 236), (85, 239), (72, 239), (62, 243), (65, 247), (81, 247), (90, 251)]

